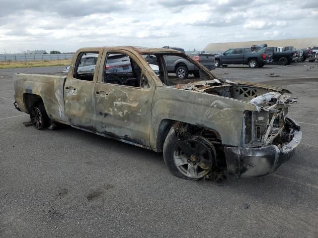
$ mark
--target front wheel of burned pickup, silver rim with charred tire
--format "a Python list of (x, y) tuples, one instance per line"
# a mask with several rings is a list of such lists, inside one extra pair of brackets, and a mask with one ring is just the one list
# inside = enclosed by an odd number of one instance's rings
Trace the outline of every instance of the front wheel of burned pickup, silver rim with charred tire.
[(213, 144), (202, 136), (178, 138), (172, 127), (163, 144), (164, 163), (170, 172), (182, 179), (201, 179), (215, 164)]

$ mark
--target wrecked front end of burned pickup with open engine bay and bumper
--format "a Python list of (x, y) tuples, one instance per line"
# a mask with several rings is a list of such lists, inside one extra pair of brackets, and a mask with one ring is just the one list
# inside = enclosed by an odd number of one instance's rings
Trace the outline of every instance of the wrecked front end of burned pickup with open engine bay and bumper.
[[(242, 115), (239, 143), (224, 143), (228, 173), (238, 177), (258, 177), (273, 173), (294, 153), (302, 139), (298, 123), (288, 118), (288, 108), (296, 101), (286, 89), (218, 79), (174, 85), (174, 88), (232, 98), (255, 106)], [(239, 118), (238, 118), (239, 119)], [(229, 130), (238, 128), (231, 127)], [(222, 135), (221, 135), (222, 137)]]

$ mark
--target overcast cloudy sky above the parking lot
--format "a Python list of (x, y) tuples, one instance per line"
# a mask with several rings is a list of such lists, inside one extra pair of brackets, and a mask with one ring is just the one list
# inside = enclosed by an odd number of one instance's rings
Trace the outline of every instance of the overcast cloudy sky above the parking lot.
[(318, 36), (318, 0), (0, 0), (0, 53)]

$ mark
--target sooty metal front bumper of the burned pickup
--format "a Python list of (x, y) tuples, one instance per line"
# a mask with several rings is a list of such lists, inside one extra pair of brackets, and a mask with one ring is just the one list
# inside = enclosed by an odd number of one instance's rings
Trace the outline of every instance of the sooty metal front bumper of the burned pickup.
[(293, 124), (293, 139), (281, 148), (268, 145), (258, 148), (225, 147), (228, 172), (238, 177), (259, 177), (275, 172), (278, 167), (288, 161), (300, 144), (302, 132), (299, 124)]

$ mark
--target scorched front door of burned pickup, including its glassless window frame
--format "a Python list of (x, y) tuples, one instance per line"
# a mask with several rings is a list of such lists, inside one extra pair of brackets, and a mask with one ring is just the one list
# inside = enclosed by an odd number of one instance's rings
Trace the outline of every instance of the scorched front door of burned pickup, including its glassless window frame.
[(105, 52), (103, 59), (94, 91), (96, 131), (149, 146), (155, 92), (149, 68), (123, 50)]

